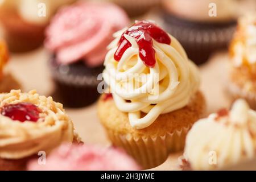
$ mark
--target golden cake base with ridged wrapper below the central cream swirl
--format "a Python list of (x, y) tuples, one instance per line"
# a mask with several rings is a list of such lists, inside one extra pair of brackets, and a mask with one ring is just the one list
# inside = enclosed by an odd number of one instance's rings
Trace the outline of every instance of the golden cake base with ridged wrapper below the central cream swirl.
[(194, 122), (205, 115), (206, 104), (201, 92), (179, 110), (161, 114), (150, 126), (131, 127), (127, 113), (119, 111), (112, 99), (98, 102), (98, 115), (114, 146), (122, 147), (144, 169), (162, 164), (170, 152), (184, 148), (185, 137)]

